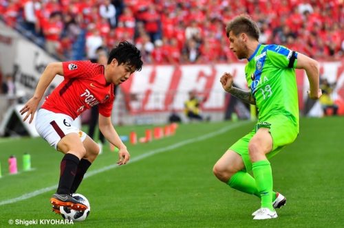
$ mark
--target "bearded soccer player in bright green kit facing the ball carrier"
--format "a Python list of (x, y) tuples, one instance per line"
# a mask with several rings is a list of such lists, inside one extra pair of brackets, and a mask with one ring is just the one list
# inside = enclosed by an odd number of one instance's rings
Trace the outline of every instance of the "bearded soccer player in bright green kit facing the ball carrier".
[[(247, 15), (239, 15), (226, 27), (230, 50), (248, 60), (245, 67), (250, 91), (233, 87), (233, 76), (224, 73), (220, 82), (228, 93), (255, 104), (258, 122), (215, 163), (215, 176), (230, 187), (261, 198), (253, 219), (277, 218), (275, 208), (286, 198), (272, 190), (270, 159), (299, 134), (299, 104), (294, 69), (305, 69), (310, 82), (308, 94), (321, 96), (319, 64), (316, 60), (280, 45), (259, 43), (259, 28)], [(249, 174), (252, 171), (253, 176)]]

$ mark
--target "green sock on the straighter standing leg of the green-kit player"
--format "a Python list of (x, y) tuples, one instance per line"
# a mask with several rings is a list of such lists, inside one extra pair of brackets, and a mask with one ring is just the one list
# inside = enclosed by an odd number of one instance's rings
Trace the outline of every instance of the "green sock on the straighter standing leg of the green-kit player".
[(255, 176), (257, 190), (261, 196), (261, 207), (272, 211), (272, 171), (268, 160), (261, 160), (252, 163), (252, 172)]

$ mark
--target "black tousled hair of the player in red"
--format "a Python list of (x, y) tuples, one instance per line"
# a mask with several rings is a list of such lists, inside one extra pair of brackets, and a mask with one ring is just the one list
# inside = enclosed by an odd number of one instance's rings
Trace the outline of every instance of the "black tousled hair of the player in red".
[(127, 64), (135, 67), (136, 71), (142, 69), (143, 62), (141, 60), (141, 52), (135, 45), (128, 41), (120, 42), (111, 50), (107, 64), (110, 64), (114, 58), (116, 58), (118, 65)]

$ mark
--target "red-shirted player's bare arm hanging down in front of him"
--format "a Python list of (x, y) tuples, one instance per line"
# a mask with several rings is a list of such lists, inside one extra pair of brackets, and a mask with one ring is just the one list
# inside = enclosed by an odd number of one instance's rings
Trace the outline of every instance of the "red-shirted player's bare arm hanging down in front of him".
[(124, 165), (130, 159), (127, 146), (123, 144), (122, 140), (118, 136), (114, 126), (111, 123), (111, 117), (105, 117), (99, 113), (99, 129), (103, 133), (104, 137), (114, 144), (118, 149), (118, 165)]

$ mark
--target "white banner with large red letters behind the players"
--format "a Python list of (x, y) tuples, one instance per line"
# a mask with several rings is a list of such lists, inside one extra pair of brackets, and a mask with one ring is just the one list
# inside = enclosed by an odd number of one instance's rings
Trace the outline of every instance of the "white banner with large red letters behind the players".
[[(225, 93), (219, 78), (224, 72), (234, 77), (235, 85), (247, 89), (245, 63), (217, 65), (160, 65), (144, 66), (121, 85), (127, 109), (133, 114), (182, 110), (188, 93), (195, 90), (204, 98), (202, 110), (224, 110)], [(321, 77), (336, 82), (335, 98), (344, 99), (344, 71), (341, 62), (321, 62)], [(299, 104), (303, 108), (308, 90), (308, 78), (303, 70), (297, 70)]]

